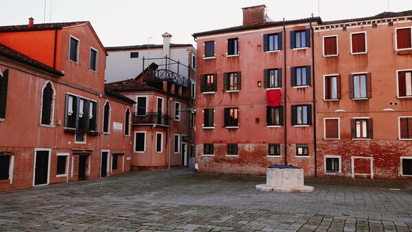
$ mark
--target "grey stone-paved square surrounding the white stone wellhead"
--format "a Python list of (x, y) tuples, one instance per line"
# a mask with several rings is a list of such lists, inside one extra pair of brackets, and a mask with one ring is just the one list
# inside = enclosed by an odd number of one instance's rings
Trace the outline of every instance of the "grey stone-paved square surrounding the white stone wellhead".
[(306, 194), (264, 182), (174, 169), (0, 193), (0, 231), (412, 230), (410, 181), (307, 178)]

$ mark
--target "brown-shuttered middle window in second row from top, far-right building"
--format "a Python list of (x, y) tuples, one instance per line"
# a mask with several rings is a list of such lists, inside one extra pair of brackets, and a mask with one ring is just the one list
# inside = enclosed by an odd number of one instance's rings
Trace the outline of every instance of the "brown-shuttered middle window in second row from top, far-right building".
[(371, 73), (351, 74), (349, 76), (350, 99), (365, 99), (372, 97)]

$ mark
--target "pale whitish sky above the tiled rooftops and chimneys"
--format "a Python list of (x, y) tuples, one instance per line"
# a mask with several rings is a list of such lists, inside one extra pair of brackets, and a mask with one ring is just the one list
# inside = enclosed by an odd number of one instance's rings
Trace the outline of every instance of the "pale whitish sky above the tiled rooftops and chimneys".
[[(242, 8), (252, 5), (265, 4), (275, 21), (308, 18), (312, 12), (330, 21), (388, 11), (388, 0), (46, 0), (46, 11), (45, 0), (0, 3), (0, 25), (26, 24), (30, 16), (34, 23), (91, 21), (106, 47), (146, 44), (149, 37), (161, 44), (164, 32), (172, 34), (172, 43), (194, 44), (194, 32), (242, 25)], [(412, 0), (389, 0), (389, 10), (412, 10)]]

